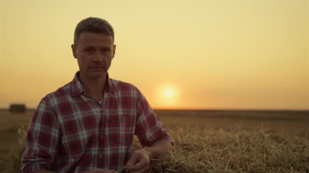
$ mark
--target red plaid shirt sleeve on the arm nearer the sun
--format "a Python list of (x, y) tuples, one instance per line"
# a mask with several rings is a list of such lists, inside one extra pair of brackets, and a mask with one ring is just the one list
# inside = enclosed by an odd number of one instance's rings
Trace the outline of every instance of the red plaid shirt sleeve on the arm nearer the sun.
[(151, 146), (154, 142), (160, 140), (168, 140), (174, 145), (174, 140), (162, 125), (159, 116), (153, 112), (143, 94), (140, 91), (138, 92), (135, 135), (137, 135), (142, 146)]

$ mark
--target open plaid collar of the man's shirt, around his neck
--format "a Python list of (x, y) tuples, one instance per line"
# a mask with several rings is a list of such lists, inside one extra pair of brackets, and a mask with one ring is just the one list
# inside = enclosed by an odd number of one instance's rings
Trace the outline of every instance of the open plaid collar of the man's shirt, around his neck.
[[(82, 93), (85, 93), (85, 90), (79, 80), (79, 71), (77, 71), (74, 75), (74, 78), (72, 80), (71, 83), (71, 92), (73, 97), (78, 97), (80, 96)], [(114, 93), (114, 87), (113, 87), (113, 83), (111, 81), (111, 78), (109, 78), (108, 73), (106, 73), (106, 80), (105, 80), (105, 86), (104, 86), (104, 91), (110, 91), (112, 93)]]

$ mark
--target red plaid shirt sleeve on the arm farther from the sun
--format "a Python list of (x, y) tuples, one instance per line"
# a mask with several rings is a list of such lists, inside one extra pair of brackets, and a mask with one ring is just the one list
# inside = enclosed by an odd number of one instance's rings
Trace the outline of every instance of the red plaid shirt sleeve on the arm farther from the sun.
[(58, 154), (60, 133), (55, 113), (43, 98), (28, 127), (20, 172), (50, 169)]

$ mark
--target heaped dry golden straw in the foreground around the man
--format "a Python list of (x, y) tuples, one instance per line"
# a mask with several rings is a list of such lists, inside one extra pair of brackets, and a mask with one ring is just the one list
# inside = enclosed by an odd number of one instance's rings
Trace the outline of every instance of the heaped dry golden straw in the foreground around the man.
[[(25, 131), (8, 155), (7, 172), (19, 172)], [(198, 129), (190, 126), (169, 130), (174, 151), (151, 160), (149, 172), (309, 172), (309, 140), (261, 128)], [(139, 148), (137, 139), (134, 148)]]

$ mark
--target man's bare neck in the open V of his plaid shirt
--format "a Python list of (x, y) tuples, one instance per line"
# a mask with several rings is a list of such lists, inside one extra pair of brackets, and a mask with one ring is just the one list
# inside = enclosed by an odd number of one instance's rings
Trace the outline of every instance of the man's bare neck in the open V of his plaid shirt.
[(101, 78), (87, 78), (86, 76), (79, 74), (79, 80), (88, 96), (98, 102), (103, 99), (106, 74)]

